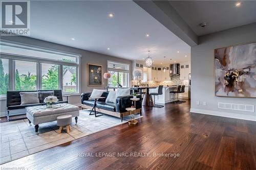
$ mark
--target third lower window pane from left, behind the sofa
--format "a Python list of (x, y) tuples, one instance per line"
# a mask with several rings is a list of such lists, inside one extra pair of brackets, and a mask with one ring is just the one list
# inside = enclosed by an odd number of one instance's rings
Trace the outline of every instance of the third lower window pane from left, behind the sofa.
[(59, 65), (42, 63), (42, 90), (59, 89)]

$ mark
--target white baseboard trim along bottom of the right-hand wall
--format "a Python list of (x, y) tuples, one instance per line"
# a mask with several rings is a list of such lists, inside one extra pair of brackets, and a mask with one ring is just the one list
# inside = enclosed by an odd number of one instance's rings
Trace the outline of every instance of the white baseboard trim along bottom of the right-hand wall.
[(256, 116), (250, 116), (250, 115), (226, 113), (226, 112), (203, 110), (203, 109), (193, 109), (193, 108), (190, 108), (190, 112), (200, 113), (200, 114), (208, 114), (208, 115), (213, 115), (213, 116), (221, 116), (221, 117), (229, 117), (229, 118), (250, 120), (250, 121), (256, 122)]

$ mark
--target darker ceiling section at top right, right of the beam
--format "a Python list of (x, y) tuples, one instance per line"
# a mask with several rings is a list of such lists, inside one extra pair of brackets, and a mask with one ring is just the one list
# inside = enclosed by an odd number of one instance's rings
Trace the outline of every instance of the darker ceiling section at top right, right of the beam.
[(198, 36), (256, 22), (256, 1), (241, 2), (236, 7), (238, 1), (169, 1)]

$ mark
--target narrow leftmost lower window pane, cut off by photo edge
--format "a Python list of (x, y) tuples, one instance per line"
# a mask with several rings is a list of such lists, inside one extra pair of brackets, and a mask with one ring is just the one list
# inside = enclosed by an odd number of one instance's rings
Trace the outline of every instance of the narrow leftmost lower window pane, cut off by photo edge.
[(0, 95), (6, 94), (9, 84), (9, 60), (0, 59)]

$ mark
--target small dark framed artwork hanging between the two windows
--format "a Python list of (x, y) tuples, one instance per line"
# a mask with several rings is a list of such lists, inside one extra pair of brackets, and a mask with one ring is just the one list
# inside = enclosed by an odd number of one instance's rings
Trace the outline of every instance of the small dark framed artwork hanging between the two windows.
[(102, 85), (102, 65), (88, 64), (88, 86)]

